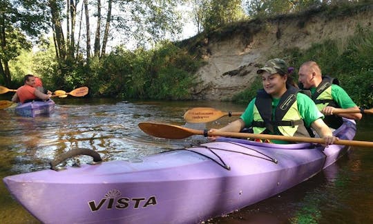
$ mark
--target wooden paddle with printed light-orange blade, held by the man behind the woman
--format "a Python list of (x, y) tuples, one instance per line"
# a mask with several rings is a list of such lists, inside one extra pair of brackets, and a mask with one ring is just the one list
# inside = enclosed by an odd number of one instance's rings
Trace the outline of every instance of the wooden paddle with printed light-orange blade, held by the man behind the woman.
[[(364, 113), (373, 113), (372, 109), (363, 109)], [(336, 108), (334, 109), (334, 113), (361, 113), (360, 109), (341, 109)], [(217, 109), (213, 109), (210, 107), (195, 107), (193, 109), (190, 109), (189, 111), (184, 113), (184, 120), (189, 123), (206, 123), (211, 122), (214, 120), (218, 120), (219, 118), (222, 118), (224, 116), (233, 116), (233, 115), (241, 115), (242, 112), (222, 112), (218, 111)]]

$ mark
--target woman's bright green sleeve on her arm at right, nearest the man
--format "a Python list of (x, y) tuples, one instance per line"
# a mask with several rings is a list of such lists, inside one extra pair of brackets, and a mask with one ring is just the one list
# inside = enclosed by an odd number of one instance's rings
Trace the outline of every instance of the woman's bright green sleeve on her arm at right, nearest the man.
[(300, 116), (305, 121), (305, 126), (310, 127), (311, 124), (318, 120), (318, 118), (323, 119), (324, 115), (318, 111), (317, 106), (311, 98), (303, 93), (298, 93), (296, 95), (296, 101), (298, 106), (298, 111)]

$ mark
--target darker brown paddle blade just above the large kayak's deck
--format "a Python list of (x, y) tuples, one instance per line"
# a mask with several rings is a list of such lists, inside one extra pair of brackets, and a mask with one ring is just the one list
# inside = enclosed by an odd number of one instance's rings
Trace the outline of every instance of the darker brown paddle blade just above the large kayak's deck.
[(139, 124), (139, 127), (149, 136), (157, 138), (182, 139), (195, 134), (203, 134), (203, 131), (187, 129), (173, 124), (142, 122)]

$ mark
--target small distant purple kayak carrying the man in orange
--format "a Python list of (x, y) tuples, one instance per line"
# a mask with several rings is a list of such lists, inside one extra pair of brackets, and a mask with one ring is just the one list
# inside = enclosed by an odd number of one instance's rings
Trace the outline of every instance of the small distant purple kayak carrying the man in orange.
[(39, 115), (49, 115), (55, 111), (55, 102), (48, 101), (32, 101), (16, 106), (15, 111), (23, 117), (35, 118)]

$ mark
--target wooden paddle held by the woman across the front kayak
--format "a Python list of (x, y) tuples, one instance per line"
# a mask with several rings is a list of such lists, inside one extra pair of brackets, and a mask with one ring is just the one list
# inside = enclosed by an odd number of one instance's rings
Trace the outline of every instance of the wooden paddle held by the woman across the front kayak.
[[(270, 139), (270, 140), (284, 140), (289, 142), (311, 142), (324, 144), (323, 138), (307, 138), (307, 137), (293, 137), (293, 136), (275, 136), (267, 134), (254, 134), (254, 133), (236, 133), (236, 132), (225, 132), (215, 131), (213, 134), (207, 131), (189, 129), (186, 127), (180, 127), (173, 124), (160, 124), (160, 123), (149, 123), (142, 122), (139, 124), (140, 129), (150, 136), (157, 138), (170, 138), (170, 139), (182, 139), (193, 135), (202, 136), (224, 136), (231, 138), (258, 138), (258, 139)], [(355, 140), (336, 140), (334, 144), (358, 146), (358, 147), (373, 147), (373, 142), (355, 141)]]

